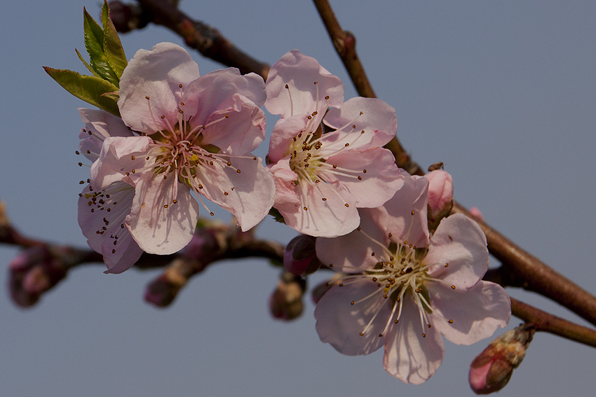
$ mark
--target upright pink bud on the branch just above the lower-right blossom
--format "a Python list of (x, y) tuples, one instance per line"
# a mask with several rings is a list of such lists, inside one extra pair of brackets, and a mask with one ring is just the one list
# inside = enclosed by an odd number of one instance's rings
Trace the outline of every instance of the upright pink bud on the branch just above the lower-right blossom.
[(435, 230), (453, 207), (453, 179), (442, 169), (426, 174), (428, 179), (428, 229)]

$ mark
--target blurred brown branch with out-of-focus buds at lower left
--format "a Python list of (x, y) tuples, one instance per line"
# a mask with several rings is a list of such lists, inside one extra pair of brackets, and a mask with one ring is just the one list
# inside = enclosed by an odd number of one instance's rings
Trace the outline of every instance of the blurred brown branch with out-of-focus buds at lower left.
[[(164, 271), (147, 286), (145, 300), (158, 306), (169, 305), (187, 281), (212, 263), (225, 259), (266, 258), (283, 262), (283, 245), (255, 238), (252, 230), (201, 219), (191, 242), (170, 255), (143, 253), (135, 268)], [(20, 307), (32, 307), (43, 293), (57, 286), (75, 267), (103, 263), (100, 253), (90, 249), (51, 244), (22, 235), (13, 227), (0, 201), (0, 243), (21, 246), (23, 251), (8, 264), (11, 298)]]

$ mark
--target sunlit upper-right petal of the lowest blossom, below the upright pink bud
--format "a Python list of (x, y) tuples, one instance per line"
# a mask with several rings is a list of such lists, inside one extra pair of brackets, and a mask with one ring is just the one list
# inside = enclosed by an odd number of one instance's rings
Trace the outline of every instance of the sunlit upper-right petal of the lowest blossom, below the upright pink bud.
[(424, 263), (435, 264), (428, 270), (431, 277), (442, 279), (456, 288), (469, 288), (488, 269), (485, 233), (478, 223), (463, 214), (447, 216), (431, 237)]

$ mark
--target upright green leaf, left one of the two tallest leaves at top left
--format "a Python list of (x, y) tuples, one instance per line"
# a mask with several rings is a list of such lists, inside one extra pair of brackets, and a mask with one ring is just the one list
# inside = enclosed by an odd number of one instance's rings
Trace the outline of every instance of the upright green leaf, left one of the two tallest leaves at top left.
[(107, 61), (104, 53), (104, 31), (100, 25), (91, 18), (91, 15), (83, 8), (83, 31), (85, 34), (85, 47), (89, 54), (89, 63), (98, 76), (118, 88), (119, 79)]

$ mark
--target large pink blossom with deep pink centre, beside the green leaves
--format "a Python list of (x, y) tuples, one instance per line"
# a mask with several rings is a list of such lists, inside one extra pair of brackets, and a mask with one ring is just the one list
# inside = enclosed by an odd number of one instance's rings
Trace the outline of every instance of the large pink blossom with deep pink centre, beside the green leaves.
[(182, 249), (198, 202), (207, 208), (201, 195), (236, 216), (242, 230), (266, 216), (273, 180), (250, 153), (265, 134), (260, 76), (237, 69), (199, 76), (184, 48), (158, 43), (130, 60), (119, 94), (122, 120), (135, 135), (105, 139), (91, 184), (95, 191), (118, 181), (133, 186), (124, 225), (143, 251)]

